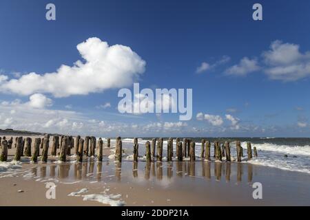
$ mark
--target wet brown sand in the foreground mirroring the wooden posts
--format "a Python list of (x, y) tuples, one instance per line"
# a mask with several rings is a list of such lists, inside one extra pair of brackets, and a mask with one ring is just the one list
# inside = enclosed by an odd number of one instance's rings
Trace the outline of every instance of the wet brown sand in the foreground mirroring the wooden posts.
[[(130, 144), (124, 144), (130, 151)], [(82, 195), (119, 195), (125, 206), (309, 206), (310, 175), (246, 162), (131, 162), (121, 164), (87, 158), (83, 163), (30, 164), (0, 173), (1, 206), (109, 206), (83, 201)], [(9, 159), (14, 155), (9, 151)], [(56, 199), (47, 199), (47, 182), (56, 185)], [(254, 199), (254, 182), (262, 184), (262, 199)], [(76, 197), (71, 192), (87, 188)], [(23, 192), (18, 192), (23, 190)]]

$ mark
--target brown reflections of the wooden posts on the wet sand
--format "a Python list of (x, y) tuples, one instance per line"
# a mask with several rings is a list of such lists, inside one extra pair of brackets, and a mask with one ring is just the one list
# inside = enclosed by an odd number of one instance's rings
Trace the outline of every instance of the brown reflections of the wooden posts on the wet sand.
[[(163, 179), (186, 178), (189, 176), (205, 177), (206, 180), (225, 180), (226, 182), (237, 181), (237, 183), (240, 183), (242, 182), (242, 176), (246, 175), (244, 181), (251, 183), (254, 176), (254, 166), (252, 164), (234, 162), (132, 162), (123, 165), (125, 173), (127, 173), (127, 171), (132, 172), (132, 177), (125, 176), (125, 179), (143, 178), (145, 180), (151, 180), (156, 178), (158, 181), (162, 181)], [(97, 181), (103, 181), (106, 176), (111, 176), (111, 174), (114, 174), (114, 170), (111, 169), (113, 166), (115, 168), (116, 178), (110, 178), (110, 180), (121, 181), (122, 163), (118, 162), (111, 165), (110, 162), (96, 161), (78, 162), (74, 164), (50, 164), (49, 168), (48, 165), (37, 166), (30, 168), (30, 171), (35, 176), (39, 173), (41, 178), (57, 177), (59, 179), (66, 179), (71, 177), (77, 180), (96, 179)], [(139, 170), (139, 168), (141, 170)], [(144, 175), (138, 176), (139, 172), (143, 172), (143, 168)], [(165, 169), (165, 171), (163, 169)], [(103, 170), (105, 171), (103, 172)], [(214, 170), (214, 172), (211, 173), (211, 170)], [(176, 175), (174, 175), (174, 172)], [(129, 180), (130, 179), (127, 179), (127, 181)]]

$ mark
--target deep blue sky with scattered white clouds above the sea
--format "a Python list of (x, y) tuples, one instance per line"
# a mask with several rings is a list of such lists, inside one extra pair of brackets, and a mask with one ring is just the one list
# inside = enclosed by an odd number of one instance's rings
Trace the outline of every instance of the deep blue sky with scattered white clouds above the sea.
[[(56, 21), (45, 19), (47, 3), (56, 5)], [(252, 19), (254, 3), (262, 4), (262, 21)], [(309, 1), (3, 0), (0, 128), (98, 136), (307, 137), (309, 6)], [(118, 79), (121, 87), (85, 80), (83, 94), (63, 81), (52, 85), (41, 78), (34, 85), (22, 79), (85, 63), (76, 46), (93, 37), (100, 45), (130, 47), (144, 68), (127, 67), (133, 72), (122, 73), (127, 75)], [(106, 82), (112, 73), (107, 70)], [(70, 84), (72, 78), (66, 80)], [(134, 82), (141, 88), (192, 88), (192, 120), (180, 122), (176, 113), (118, 113), (118, 90), (132, 89)]]

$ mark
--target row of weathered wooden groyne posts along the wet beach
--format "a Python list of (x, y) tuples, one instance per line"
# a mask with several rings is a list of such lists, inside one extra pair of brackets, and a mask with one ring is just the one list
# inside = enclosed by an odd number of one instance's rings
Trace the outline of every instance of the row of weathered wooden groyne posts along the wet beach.
[[(114, 159), (117, 162), (122, 162), (123, 158), (123, 143), (121, 137), (116, 137), (115, 144), (112, 146), (111, 139), (103, 138), (96, 140), (94, 136), (85, 136), (82, 138), (80, 135), (54, 135), (51, 137), (50, 148), (50, 135), (46, 134), (43, 138), (35, 137), (16, 137), (14, 140), (14, 160), (20, 161), (21, 157), (30, 157), (32, 162), (38, 162), (38, 157), (41, 162), (48, 162), (48, 157), (58, 156), (61, 162), (66, 162), (68, 156), (75, 155), (77, 162), (83, 162), (83, 158), (96, 157), (99, 162), (103, 161), (103, 148), (115, 148)], [(147, 141), (141, 145), (145, 154), (139, 155), (138, 138), (135, 137), (133, 141), (133, 157), (134, 162), (172, 162), (172, 161), (189, 161), (195, 162), (196, 158), (203, 161), (225, 161), (225, 162), (242, 162), (242, 160), (250, 160), (253, 157), (258, 157), (257, 148), (254, 146), (252, 149), (251, 142), (247, 142), (247, 157), (243, 155), (243, 149), (240, 141), (236, 141), (236, 155), (231, 155), (231, 144), (227, 141), (219, 142), (214, 141), (214, 155), (211, 158), (212, 143), (207, 140), (201, 140), (200, 155), (196, 155), (196, 143), (190, 138), (176, 138), (171, 137), (167, 140), (167, 148), (164, 149), (164, 140), (162, 137), (153, 138), (151, 142)], [(8, 161), (8, 151), (12, 148), (13, 137), (8, 140), (6, 137), (0, 137), (0, 161)], [(97, 147), (96, 147), (97, 146)], [(71, 151), (72, 150), (72, 151)], [(41, 152), (40, 152), (41, 151)], [(233, 151), (234, 152), (234, 151)], [(73, 153), (73, 154), (72, 154)], [(110, 157), (111, 158), (111, 157)], [(127, 158), (128, 159), (128, 158)]]

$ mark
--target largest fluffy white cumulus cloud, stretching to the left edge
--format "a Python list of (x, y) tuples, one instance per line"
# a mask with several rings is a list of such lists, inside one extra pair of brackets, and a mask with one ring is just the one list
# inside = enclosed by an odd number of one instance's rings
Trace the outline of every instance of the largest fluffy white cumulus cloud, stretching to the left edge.
[(77, 45), (85, 61), (61, 65), (56, 72), (24, 74), (8, 80), (0, 76), (0, 91), (29, 96), (36, 93), (68, 97), (129, 86), (145, 72), (145, 61), (124, 45), (109, 46), (96, 37)]

